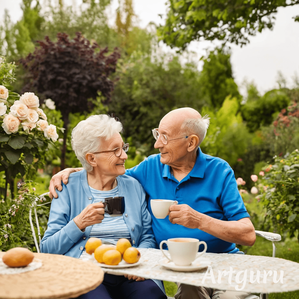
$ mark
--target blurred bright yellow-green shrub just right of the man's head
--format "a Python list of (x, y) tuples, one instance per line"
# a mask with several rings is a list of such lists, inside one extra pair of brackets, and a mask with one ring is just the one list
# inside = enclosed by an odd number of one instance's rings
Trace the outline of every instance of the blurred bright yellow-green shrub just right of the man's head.
[(237, 113), (237, 99), (226, 97), (222, 107), (214, 112), (212, 109), (202, 109), (202, 115), (210, 116), (210, 126), (200, 147), (208, 155), (216, 156), (233, 166), (245, 152), (251, 135), (242, 123), (240, 113)]

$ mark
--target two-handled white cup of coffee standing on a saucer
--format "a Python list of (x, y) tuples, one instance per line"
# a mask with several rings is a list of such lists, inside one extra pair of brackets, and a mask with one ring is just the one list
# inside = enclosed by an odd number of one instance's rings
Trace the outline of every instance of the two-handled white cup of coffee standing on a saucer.
[[(163, 244), (167, 244), (170, 258), (164, 253), (162, 249)], [(199, 245), (203, 244), (205, 249), (198, 253)], [(161, 241), (160, 249), (170, 262), (178, 266), (189, 266), (195, 258), (204, 254), (207, 251), (207, 243), (194, 238), (172, 238), (167, 241)]]

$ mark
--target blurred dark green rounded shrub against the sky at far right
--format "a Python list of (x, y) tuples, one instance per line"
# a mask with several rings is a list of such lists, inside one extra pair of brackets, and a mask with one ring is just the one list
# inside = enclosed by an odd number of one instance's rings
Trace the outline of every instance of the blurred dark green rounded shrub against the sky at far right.
[(242, 118), (250, 132), (269, 125), (273, 121), (273, 114), (286, 108), (290, 102), (289, 97), (281, 90), (274, 89), (259, 97), (254, 86), (251, 86), (250, 92), (250, 100), (241, 106)]

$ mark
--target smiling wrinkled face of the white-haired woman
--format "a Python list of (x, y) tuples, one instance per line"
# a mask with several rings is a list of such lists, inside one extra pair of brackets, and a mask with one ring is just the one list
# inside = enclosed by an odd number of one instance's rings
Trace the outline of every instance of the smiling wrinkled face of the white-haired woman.
[[(99, 152), (106, 150), (114, 150), (117, 147), (123, 147), (124, 142), (119, 133), (115, 133), (108, 140), (104, 138), (101, 140), (101, 146), (98, 149)], [(97, 167), (100, 169), (101, 174), (108, 176), (120, 176), (125, 173), (125, 161), (128, 158), (127, 154), (122, 150), (119, 157), (116, 157), (114, 152), (103, 152), (95, 154), (95, 161)]]

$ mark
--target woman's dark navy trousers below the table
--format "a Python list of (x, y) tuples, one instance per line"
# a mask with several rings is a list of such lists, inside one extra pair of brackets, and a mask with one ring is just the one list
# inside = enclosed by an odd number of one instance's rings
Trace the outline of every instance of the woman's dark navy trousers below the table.
[(105, 273), (103, 283), (77, 299), (167, 299), (167, 296), (151, 279), (135, 281)]

